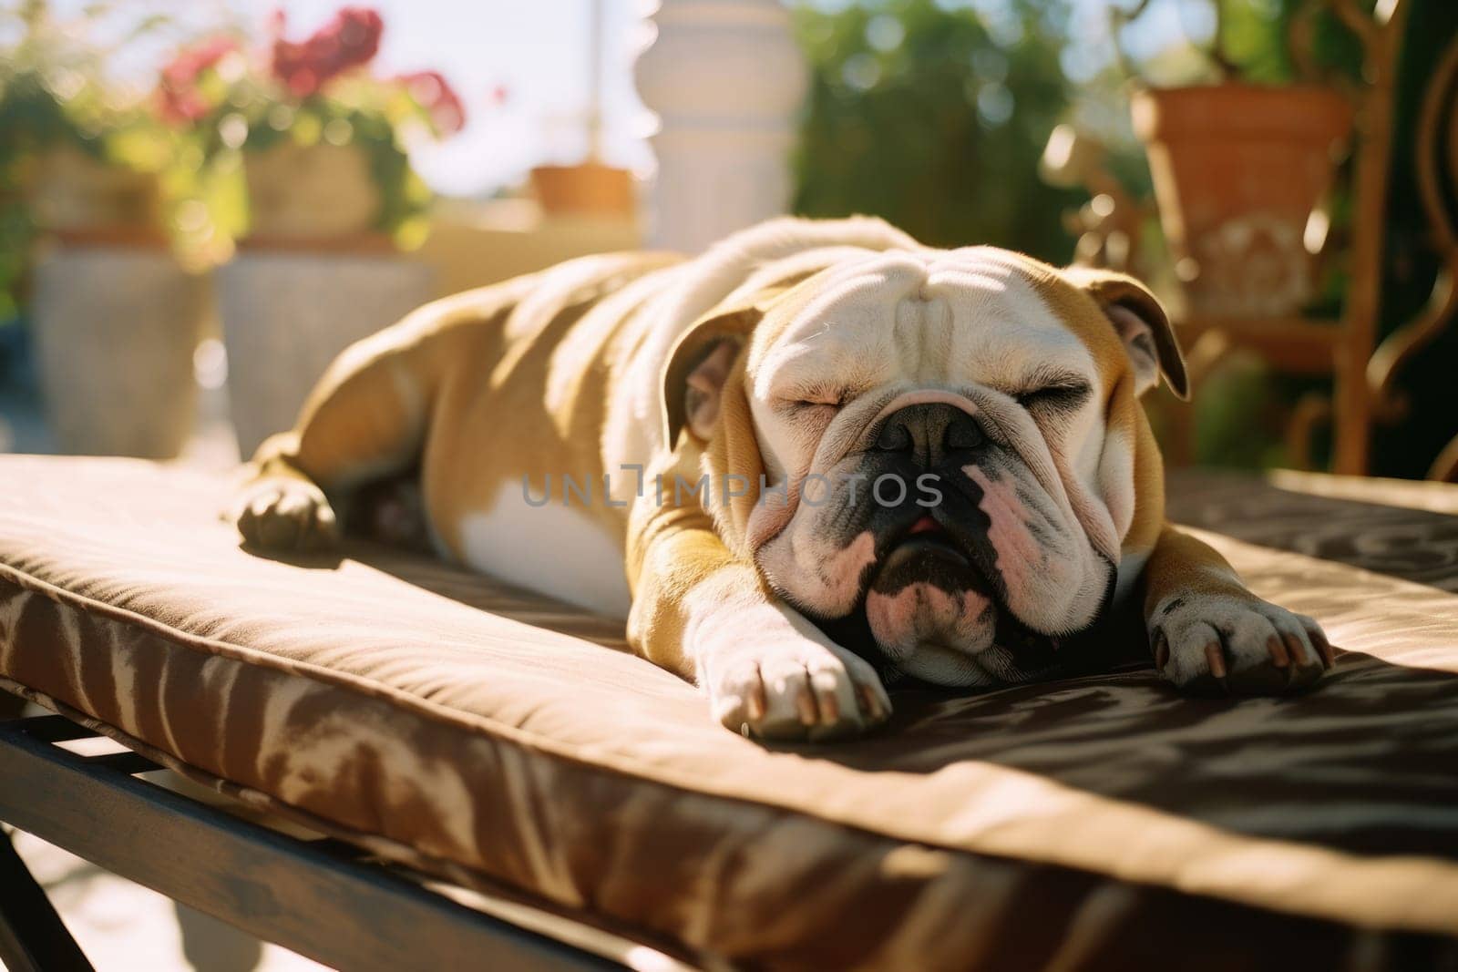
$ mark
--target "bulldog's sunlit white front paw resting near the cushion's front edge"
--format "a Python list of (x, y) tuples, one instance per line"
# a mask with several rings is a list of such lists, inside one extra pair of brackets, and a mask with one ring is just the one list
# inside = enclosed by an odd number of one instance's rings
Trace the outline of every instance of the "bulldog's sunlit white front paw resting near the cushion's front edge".
[(876, 670), (811, 640), (736, 650), (706, 676), (714, 716), (758, 739), (854, 736), (891, 717)]

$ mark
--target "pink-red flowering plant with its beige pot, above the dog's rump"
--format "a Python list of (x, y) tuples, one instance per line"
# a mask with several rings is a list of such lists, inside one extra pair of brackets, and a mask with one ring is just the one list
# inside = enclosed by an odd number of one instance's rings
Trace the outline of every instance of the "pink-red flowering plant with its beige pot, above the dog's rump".
[(261, 50), (217, 36), (162, 70), (162, 117), (195, 162), (175, 188), (208, 217), (176, 227), (184, 246), (220, 261), (239, 236), (295, 245), (379, 232), (418, 245), (430, 194), (408, 147), (458, 131), (461, 99), (434, 71), (370, 73), (383, 32), (375, 10), (343, 7), (303, 41), (284, 29), (277, 13)]

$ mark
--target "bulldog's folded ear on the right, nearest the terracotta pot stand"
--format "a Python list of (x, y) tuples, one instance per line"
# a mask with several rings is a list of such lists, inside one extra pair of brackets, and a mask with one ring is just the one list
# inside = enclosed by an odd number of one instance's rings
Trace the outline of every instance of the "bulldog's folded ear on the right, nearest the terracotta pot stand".
[(1180, 399), (1190, 401), (1190, 379), (1185, 375), (1184, 354), (1175, 338), (1169, 315), (1155, 294), (1133, 277), (1110, 270), (1069, 267), (1063, 271), (1076, 287), (1098, 302), (1104, 316), (1114, 325), (1114, 332), (1124, 342), (1128, 360), (1134, 367), (1134, 393), (1143, 395), (1165, 376)]

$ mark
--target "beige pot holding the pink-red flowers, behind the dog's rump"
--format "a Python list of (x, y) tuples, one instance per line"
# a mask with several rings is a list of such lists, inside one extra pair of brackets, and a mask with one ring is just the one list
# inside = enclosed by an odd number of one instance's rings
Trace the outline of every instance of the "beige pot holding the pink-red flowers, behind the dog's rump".
[(367, 233), (379, 214), (369, 159), (354, 146), (281, 141), (243, 156), (248, 235), (335, 239)]

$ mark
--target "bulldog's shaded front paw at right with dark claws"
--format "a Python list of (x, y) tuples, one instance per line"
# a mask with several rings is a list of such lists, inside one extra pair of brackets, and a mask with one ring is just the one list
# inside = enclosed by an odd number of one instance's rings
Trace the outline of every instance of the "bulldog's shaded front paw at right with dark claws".
[(1149, 641), (1155, 667), (1191, 694), (1283, 695), (1336, 662), (1321, 625), (1251, 593), (1166, 597)]

